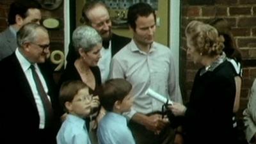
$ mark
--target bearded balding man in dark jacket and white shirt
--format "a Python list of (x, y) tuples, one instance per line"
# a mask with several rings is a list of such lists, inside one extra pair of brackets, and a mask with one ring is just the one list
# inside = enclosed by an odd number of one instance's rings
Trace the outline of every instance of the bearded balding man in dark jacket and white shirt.
[[(100, 36), (102, 37), (102, 45), (104, 49), (100, 52), (102, 58), (99, 61), (99, 68), (102, 77), (102, 83), (109, 77), (109, 67), (111, 58), (118, 52), (122, 47), (131, 41), (131, 38), (116, 35), (111, 31), (111, 19), (109, 17), (108, 8), (100, 1), (87, 1), (83, 7), (81, 22), (95, 28)], [(74, 65), (76, 60), (76, 52), (74, 48), (69, 48), (67, 55), (67, 64)]]

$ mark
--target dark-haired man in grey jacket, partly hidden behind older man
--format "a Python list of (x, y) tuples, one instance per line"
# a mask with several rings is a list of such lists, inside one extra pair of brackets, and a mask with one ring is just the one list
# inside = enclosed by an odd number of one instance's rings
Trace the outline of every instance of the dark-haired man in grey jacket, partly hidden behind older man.
[(33, 0), (17, 0), (10, 5), (9, 27), (0, 33), (0, 60), (10, 56), (17, 48), (16, 33), (28, 22), (40, 23), (40, 4)]

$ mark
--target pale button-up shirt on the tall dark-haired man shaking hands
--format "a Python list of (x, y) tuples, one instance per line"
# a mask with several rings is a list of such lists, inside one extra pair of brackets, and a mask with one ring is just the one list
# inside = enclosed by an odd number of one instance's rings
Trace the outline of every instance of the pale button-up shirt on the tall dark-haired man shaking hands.
[(117, 52), (112, 59), (111, 78), (124, 78), (132, 84), (134, 102), (128, 118), (137, 112), (161, 111), (163, 104), (145, 95), (148, 88), (174, 102), (182, 102), (172, 52), (156, 42), (148, 53), (140, 51), (134, 40)]

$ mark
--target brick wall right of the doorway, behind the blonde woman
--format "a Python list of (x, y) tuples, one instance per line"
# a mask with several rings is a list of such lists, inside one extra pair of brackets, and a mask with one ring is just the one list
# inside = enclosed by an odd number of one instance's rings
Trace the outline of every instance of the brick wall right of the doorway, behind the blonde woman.
[(222, 17), (232, 26), (237, 46), (243, 56), (243, 84), (239, 116), (248, 102), (248, 92), (256, 77), (256, 1), (255, 0), (183, 0), (182, 1), (182, 62), (181, 76), (184, 84), (184, 99), (189, 99), (196, 70), (200, 67), (186, 59), (186, 38), (184, 29), (191, 20), (209, 20)]

